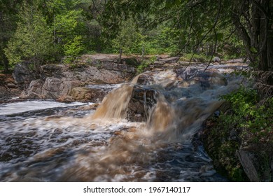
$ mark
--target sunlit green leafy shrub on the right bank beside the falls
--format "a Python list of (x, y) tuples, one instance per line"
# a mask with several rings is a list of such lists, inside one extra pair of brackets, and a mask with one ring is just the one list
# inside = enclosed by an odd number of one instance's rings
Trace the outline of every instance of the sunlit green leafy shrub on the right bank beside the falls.
[(273, 98), (258, 105), (258, 92), (251, 89), (241, 88), (234, 94), (223, 97), (232, 104), (235, 112), (235, 123), (243, 130), (242, 134), (247, 137), (248, 142), (260, 142), (273, 130)]

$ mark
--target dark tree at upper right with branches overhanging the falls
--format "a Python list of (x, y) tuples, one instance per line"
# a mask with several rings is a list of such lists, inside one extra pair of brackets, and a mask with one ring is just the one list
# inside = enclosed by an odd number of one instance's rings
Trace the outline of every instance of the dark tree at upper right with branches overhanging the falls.
[(273, 1), (113, 0), (106, 3), (102, 25), (115, 32), (124, 18), (143, 13), (151, 16), (145, 21), (148, 26), (169, 21), (174, 28), (186, 29), (196, 48), (204, 41), (213, 41), (215, 51), (216, 43), (225, 38), (222, 29), (236, 32), (255, 69), (273, 69)]

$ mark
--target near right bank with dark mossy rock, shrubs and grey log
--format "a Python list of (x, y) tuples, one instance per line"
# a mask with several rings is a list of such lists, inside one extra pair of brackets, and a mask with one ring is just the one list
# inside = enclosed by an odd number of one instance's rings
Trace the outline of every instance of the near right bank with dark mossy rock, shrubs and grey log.
[(273, 181), (273, 98), (241, 88), (204, 123), (204, 148), (231, 181)]

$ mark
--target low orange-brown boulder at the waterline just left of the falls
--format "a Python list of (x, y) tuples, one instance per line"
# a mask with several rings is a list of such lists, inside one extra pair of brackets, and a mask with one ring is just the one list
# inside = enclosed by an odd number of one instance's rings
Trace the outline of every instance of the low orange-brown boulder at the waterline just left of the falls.
[(72, 89), (72, 99), (79, 102), (102, 102), (108, 92), (101, 88), (74, 87)]

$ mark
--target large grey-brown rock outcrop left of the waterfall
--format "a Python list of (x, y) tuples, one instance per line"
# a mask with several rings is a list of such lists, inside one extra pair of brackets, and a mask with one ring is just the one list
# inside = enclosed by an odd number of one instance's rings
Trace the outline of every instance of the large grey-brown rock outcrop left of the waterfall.
[[(71, 66), (50, 64), (41, 66), (41, 80), (34, 80), (33, 73), (25, 65), (16, 66), (13, 76), (16, 82), (27, 87), (20, 95), (23, 99), (57, 99), (99, 102), (106, 92), (87, 90), (90, 84), (117, 84), (132, 79), (134, 66), (118, 64), (115, 58), (88, 55), (81, 62)], [(82, 87), (72, 90), (75, 87)]]

